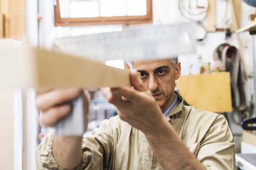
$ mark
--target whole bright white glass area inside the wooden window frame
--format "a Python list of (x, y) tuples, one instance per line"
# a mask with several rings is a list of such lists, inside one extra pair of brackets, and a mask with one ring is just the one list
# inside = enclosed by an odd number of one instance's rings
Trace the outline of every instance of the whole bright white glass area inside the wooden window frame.
[(59, 0), (61, 18), (145, 16), (147, 0)]

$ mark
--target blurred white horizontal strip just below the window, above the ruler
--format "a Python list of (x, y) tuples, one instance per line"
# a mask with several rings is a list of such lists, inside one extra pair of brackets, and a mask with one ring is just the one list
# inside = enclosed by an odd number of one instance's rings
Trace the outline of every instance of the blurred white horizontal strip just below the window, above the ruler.
[(76, 28), (71, 29), (71, 36), (98, 34), (98, 33), (106, 33), (106, 32), (113, 32), (113, 31), (122, 31), (122, 29), (123, 29), (123, 27), (120, 25), (76, 27)]

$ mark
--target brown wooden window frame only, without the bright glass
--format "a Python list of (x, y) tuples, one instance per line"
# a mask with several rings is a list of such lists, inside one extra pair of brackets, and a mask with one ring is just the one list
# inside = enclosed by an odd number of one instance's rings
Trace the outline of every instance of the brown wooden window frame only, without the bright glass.
[(82, 26), (82, 25), (132, 25), (152, 22), (152, 0), (147, 1), (145, 16), (120, 17), (92, 17), (92, 18), (61, 18), (59, 0), (54, 6), (55, 26)]

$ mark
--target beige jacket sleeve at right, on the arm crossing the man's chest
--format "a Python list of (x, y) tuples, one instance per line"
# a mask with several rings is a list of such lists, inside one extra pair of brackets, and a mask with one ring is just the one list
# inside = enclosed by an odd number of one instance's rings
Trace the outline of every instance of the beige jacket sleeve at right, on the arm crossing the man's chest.
[(200, 142), (197, 158), (207, 169), (236, 169), (234, 147), (228, 123), (219, 115)]

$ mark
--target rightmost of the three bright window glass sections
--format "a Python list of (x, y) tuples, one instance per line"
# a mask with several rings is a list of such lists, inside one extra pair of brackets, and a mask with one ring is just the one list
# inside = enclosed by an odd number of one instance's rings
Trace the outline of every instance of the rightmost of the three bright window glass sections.
[(127, 0), (127, 16), (145, 16), (147, 14), (146, 0)]

